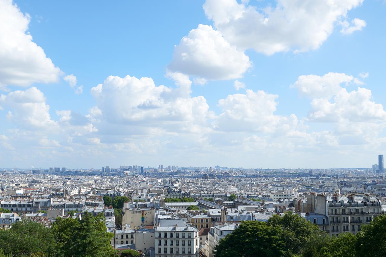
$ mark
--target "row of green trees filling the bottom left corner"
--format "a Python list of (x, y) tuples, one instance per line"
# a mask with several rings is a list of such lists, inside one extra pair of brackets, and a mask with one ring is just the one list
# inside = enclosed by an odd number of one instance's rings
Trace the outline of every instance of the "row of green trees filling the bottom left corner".
[(57, 218), (46, 228), (22, 220), (0, 230), (0, 257), (13, 256), (118, 256), (110, 245), (113, 233), (106, 232), (105, 217), (84, 213), (82, 220)]

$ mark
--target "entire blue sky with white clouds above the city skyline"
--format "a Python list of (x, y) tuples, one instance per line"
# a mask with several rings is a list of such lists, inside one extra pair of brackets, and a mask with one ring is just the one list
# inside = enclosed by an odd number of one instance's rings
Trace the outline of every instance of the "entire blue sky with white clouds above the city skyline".
[(370, 167), (386, 4), (289, 2), (0, 0), (0, 167)]

